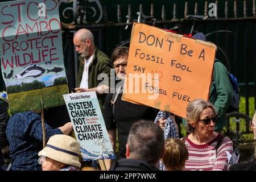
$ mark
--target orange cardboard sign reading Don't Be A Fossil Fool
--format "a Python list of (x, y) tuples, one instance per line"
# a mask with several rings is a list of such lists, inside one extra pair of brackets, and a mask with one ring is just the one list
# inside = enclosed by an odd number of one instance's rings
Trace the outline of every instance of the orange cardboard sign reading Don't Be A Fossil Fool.
[(122, 100), (185, 118), (188, 102), (208, 100), (216, 46), (134, 23)]

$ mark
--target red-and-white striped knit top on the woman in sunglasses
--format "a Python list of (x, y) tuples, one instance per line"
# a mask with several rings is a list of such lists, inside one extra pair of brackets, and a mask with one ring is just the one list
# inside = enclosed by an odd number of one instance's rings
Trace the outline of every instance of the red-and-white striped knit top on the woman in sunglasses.
[(185, 163), (187, 171), (223, 171), (228, 170), (228, 155), (226, 152), (232, 154), (233, 143), (228, 137), (225, 137), (216, 154), (216, 145), (218, 139), (221, 137), (218, 134), (216, 138), (207, 144), (195, 144), (188, 137), (185, 137), (185, 145), (188, 148), (188, 160)]

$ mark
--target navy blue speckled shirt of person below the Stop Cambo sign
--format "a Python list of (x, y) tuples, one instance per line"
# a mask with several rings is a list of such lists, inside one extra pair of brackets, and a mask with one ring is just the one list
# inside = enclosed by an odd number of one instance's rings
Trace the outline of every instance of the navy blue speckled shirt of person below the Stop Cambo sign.
[[(47, 123), (46, 142), (56, 134), (63, 134), (60, 129), (52, 129)], [(38, 152), (43, 149), (42, 119), (32, 111), (14, 114), (6, 129), (9, 140), (11, 170), (35, 171), (42, 170), (38, 163)]]

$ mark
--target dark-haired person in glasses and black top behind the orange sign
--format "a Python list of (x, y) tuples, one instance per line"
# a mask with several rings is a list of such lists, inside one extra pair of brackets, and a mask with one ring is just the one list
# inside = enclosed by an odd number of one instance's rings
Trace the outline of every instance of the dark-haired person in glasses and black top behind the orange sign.
[[(131, 125), (141, 119), (154, 121), (158, 110), (123, 101), (122, 86), (126, 76), (127, 59), (129, 55), (128, 47), (117, 47), (114, 49), (110, 60), (113, 63), (115, 75), (121, 80), (118, 82), (115, 93), (109, 93), (104, 103), (104, 121), (108, 130), (109, 138), (115, 151), (116, 133), (118, 134), (119, 158), (125, 158), (127, 137)], [(118, 132), (116, 132), (118, 131)], [(108, 162), (106, 162), (108, 163)], [(107, 164), (108, 167), (109, 163)], [(108, 168), (107, 167), (107, 168)]]

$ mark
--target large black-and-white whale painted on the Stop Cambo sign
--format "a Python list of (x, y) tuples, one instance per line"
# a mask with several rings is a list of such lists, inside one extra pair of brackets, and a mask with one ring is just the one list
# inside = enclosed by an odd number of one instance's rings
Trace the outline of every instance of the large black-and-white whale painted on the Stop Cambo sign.
[(46, 69), (43, 67), (37, 65), (37, 64), (31, 64), (29, 67), (23, 69), (22, 72), (19, 74), (15, 75), (17, 79), (23, 79), (26, 77), (39, 77), (43, 75), (43, 73), (46, 72)]

